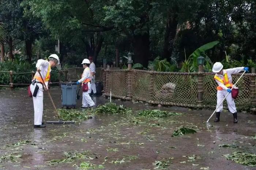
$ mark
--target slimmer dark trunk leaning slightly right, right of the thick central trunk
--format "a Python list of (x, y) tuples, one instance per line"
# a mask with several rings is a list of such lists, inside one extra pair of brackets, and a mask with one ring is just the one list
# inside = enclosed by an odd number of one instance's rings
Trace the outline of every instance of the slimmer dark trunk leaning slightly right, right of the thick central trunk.
[(164, 44), (163, 44), (163, 53), (162, 57), (166, 58), (167, 60), (170, 59), (172, 52), (173, 52), (173, 45), (174, 39), (176, 37), (177, 32), (177, 14), (176, 11), (170, 9), (168, 12), (167, 23), (165, 28), (165, 35), (164, 35)]

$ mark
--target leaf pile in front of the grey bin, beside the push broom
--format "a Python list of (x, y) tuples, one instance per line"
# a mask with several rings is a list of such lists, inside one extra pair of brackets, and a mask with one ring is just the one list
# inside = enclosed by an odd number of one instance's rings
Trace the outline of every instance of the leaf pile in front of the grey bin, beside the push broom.
[(58, 109), (58, 112), (59, 112), (60, 118), (64, 121), (75, 120), (75, 119), (79, 119), (79, 120), (88, 119), (88, 114), (85, 111), (81, 112), (76, 109)]

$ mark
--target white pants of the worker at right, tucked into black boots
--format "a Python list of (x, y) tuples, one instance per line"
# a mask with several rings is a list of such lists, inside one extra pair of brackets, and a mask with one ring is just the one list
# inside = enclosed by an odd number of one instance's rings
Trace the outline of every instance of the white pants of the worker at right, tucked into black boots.
[[(228, 93), (227, 90), (217, 90), (217, 106), (216, 107), (218, 107), (219, 105), (220, 106), (216, 112), (221, 112), (223, 110), (223, 103), (221, 103), (221, 101), (225, 98), (227, 93)], [(237, 112), (236, 104), (235, 104), (234, 99), (231, 96), (231, 93), (229, 95), (227, 95), (226, 100), (227, 100), (227, 106), (229, 108), (229, 111), (231, 113)]]

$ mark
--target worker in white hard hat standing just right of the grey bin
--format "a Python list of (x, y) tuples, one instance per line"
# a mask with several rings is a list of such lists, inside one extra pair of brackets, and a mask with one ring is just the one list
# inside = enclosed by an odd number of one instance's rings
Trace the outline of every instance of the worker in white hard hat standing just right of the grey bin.
[(80, 80), (78, 80), (76, 82), (76, 84), (82, 83), (82, 86), (85, 86), (86, 84), (88, 85), (88, 90), (83, 91), (83, 101), (82, 101), (83, 106), (82, 106), (82, 108), (90, 108), (95, 105), (89, 95), (89, 90), (91, 88), (91, 73), (90, 73), (90, 68), (89, 68), (90, 61), (88, 59), (84, 59), (82, 64), (83, 64), (83, 68), (84, 68), (82, 78)]

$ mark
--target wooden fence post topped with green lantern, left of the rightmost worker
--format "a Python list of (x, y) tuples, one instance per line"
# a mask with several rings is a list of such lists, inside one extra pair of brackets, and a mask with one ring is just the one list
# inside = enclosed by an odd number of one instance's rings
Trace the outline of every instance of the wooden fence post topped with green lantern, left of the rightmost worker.
[[(197, 58), (198, 72), (204, 72), (204, 57), (199, 56)], [(203, 102), (203, 75), (198, 75), (197, 82), (197, 102), (201, 104)]]

